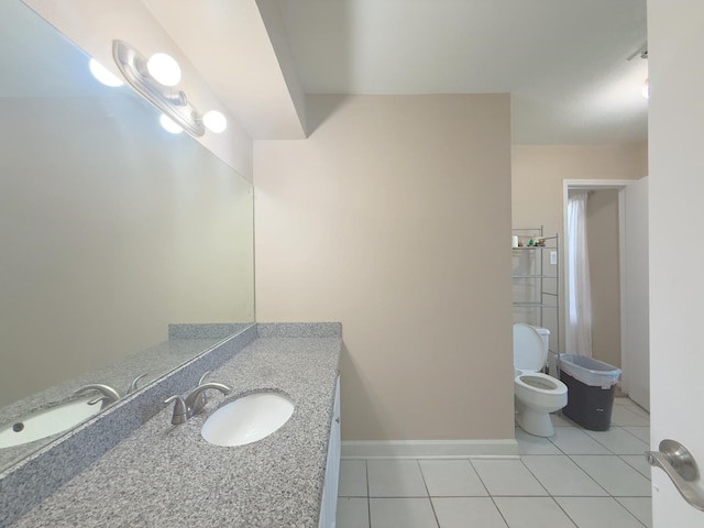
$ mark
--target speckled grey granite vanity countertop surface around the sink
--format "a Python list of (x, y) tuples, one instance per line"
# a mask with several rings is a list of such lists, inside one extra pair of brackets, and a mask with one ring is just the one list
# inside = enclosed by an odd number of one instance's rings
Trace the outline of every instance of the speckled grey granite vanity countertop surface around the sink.
[[(231, 395), (210, 391), (206, 409), (182, 426), (168, 406), (12, 526), (317, 527), (341, 344), (256, 339), (208, 377)], [(261, 389), (294, 400), (280, 429), (232, 448), (201, 438), (215, 410)]]

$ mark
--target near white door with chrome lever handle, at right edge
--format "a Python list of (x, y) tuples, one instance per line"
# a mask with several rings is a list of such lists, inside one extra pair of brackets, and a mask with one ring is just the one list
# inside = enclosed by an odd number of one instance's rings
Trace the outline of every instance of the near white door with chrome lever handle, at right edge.
[[(651, 449), (684, 444), (704, 469), (704, 2), (648, 0)], [(704, 512), (652, 470), (653, 526)], [(702, 476), (695, 483), (704, 493)]]

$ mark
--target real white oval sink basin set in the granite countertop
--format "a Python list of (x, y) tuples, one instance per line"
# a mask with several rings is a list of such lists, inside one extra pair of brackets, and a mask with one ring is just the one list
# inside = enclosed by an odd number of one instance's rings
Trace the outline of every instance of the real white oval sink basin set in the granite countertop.
[(244, 446), (276, 431), (294, 414), (294, 403), (275, 392), (254, 393), (223, 405), (204, 424), (200, 433), (216, 446)]

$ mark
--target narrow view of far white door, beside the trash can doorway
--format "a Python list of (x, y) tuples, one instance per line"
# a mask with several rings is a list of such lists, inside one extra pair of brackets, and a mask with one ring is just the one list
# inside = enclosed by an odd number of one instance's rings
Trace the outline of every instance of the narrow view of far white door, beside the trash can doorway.
[(650, 409), (648, 178), (624, 187), (622, 233), (622, 387)]

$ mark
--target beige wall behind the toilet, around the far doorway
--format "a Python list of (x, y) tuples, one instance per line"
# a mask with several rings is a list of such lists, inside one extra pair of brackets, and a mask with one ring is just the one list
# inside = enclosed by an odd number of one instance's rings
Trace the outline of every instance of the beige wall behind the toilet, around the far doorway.
[[(544, 226), (560, 235), (563, 276), (563, 180), (638, 179), (648, 174), (647, 143), (628, 145), (514, 145), (512, 215), (514, 228)], [(560, 350), (564, 351), (564, 283), (560, 284)], [(554, 311), (554, 310), (552, 310)], [(546, 312), (546, 316), (549, 314)], [(546, 324), (554, 333), (552, 321)], [(551, 340), (554, 343), (554, 337)], [(557, 350), (553, 344), (550, 346)]]

